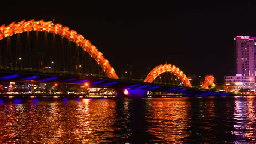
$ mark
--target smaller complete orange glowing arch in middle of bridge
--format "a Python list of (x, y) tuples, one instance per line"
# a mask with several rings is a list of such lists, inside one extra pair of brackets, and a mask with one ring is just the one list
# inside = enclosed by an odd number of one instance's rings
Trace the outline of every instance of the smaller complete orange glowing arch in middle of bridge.
[(192, 87), (191, 83), (189, 82), (189, 79), (183, 73), (183, 71), (175, 67), (175, 65), (171, 65), (171, 64), (164, 64), (164, 65), (161, 64), (159, 66), (156, 66), (152, 71), (149, 72), (144, 82), (151, 83), (157, 76), (165, 72), (173, 73), (175, 76), (179, 77), (179, 79), (182, 81), (182, 83), (185, 86)]

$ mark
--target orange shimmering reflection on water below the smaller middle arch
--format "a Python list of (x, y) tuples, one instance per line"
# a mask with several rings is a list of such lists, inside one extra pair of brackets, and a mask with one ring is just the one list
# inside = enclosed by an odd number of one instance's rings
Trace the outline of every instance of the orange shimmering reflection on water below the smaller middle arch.
[(152, 125), (149, 132), (155, 135), (156, 139), (152, 142), (160, 143), (161, 141), (169, 143), (182, 143), (189, 137), (187, 131), (191, 117), (189, 116), (190, 103), (187, 98), (176, 98), (173, 101), (168, 98), (153, 100), (148, 117), (148, 122)]

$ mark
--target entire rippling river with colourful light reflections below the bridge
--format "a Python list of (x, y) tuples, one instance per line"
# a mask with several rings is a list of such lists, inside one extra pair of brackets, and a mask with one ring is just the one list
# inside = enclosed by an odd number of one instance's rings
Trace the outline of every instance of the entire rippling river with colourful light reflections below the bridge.
[(0, 143), (256, 143), (256, 97), (0, 99)]

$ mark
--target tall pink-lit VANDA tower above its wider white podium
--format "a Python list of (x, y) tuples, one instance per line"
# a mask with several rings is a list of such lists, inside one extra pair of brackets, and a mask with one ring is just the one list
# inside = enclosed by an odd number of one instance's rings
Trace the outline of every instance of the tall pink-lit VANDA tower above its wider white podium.
[(236, 36), (235, 53), (237, 73), (256, 76), (256, 37)]

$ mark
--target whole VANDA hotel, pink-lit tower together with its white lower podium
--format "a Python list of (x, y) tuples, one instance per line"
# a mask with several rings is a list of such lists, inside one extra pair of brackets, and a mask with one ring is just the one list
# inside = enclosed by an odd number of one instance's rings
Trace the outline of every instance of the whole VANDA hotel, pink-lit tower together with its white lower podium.
[(224, 89), (231, 92), (237, 92), (241, 88), (255, 91), (256, 37), (236, 36), (234, 43), (236, 76), (224, 77)]

